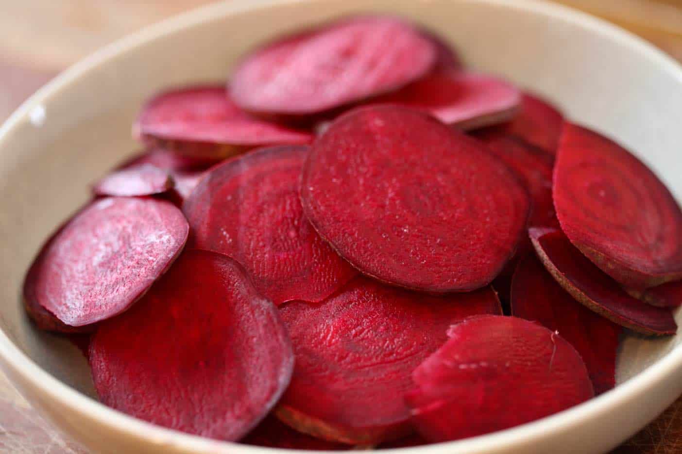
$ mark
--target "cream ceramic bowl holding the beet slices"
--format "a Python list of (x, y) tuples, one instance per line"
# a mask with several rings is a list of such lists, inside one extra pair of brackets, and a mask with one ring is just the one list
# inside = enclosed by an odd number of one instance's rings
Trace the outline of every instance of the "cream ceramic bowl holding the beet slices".
[[(235, 0), (123, 39), (65, 71), (0, 129), (0, 366), (31, 404), (93, 451), (271, 452), (163, 429), (99, 404), (82, 355), (35, 330), (23, 313), (18, 295), (33, 254), (89, 197), (89, 182), (134, 150), (130, 125), (151, 93), (224, 80), (235, 59), (263, 39), (368, 10), (423, 22), (456, 44), (472, 67), (532, 88), (570, 118), (617, 137), (682, 196), (682, 68), (633, 35), (565, 7), (518, 0)], [(613, 391), (535, 423), (404, 452), (604, 452), (682, 392), (679, 342), (680, 336), (626, 336)]]

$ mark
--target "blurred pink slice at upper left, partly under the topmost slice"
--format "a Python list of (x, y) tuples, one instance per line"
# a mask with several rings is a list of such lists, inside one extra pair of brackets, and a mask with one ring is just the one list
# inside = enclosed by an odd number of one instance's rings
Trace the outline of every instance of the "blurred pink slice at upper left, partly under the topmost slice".
[(312, 136), (253, 118), (228, 97), (224, 86), (179, 88), (147, 103), (134, 135), (148, 144), (205, 157), (228, 157), (247, 148), (305, 144)]

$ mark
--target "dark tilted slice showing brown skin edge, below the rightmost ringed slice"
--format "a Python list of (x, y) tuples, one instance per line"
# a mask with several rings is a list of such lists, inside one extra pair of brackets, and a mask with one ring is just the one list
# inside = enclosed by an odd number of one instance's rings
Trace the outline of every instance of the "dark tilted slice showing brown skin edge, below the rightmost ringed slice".
[(618, 282), (582, 255), (562, 231), (531, 228), (538, 257), (559, 285), (578, 302), (610, 321), (642, 334), (674, 334), (670, 310), (649, 306), (628, 295)]

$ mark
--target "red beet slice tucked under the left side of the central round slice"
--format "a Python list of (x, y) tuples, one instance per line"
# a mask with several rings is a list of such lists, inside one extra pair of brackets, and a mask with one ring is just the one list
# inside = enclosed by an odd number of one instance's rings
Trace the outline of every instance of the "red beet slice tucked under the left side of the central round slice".
[(190, 244), (239, 261), (275, 304), (322, 301), (357, 274), (303, 215), (298, 189), (308, 150), (263, 148), (226, 161), (183, 205)]

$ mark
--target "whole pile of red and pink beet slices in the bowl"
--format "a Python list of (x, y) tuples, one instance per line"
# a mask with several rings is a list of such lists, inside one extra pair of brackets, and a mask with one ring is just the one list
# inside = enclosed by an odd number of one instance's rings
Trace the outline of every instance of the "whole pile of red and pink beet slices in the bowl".
[(134, 135), (23, 295), (145, 421), (291, 449), (456, 440), (604, 393), (623, 334), (677, 331), (662, 182), (406, 20), (265, 44), (228, 85), (153, 97)]

